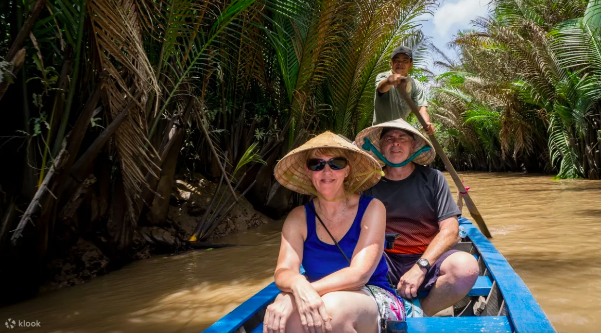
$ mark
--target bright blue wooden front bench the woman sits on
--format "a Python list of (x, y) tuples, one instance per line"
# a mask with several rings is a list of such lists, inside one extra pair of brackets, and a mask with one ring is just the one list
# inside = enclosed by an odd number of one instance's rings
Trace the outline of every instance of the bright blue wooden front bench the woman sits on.
[[(407, 333), (438, 332), (444, 327), (445, 332), (453, 333), (511, 333), (511, 325), (506, 316), (489, 317), (426, 317), (407, 319)], [(263, 323), (251, 333), (262, 333)]]

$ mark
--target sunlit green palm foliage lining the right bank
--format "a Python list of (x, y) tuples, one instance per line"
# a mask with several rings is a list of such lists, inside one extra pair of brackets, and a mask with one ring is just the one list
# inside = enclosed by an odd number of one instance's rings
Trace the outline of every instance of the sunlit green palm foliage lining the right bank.
[[(601, 173), (601, 2), (499, 0), (452, 41), (433, 90), (439, 133), (471, 170)], [(442, 53), (442, 52), (439, 52)]]

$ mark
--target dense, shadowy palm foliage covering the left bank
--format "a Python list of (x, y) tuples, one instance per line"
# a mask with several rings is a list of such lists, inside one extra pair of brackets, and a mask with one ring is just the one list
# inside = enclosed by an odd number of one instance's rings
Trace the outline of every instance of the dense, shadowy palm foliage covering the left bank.
[[(400, 43), (424, 57), (416, 17), (435, 4), (2, 1), (0, 254), (41, 264), (85, 235), (124, 257), (194, 172), (285, 212), (276, 160), (312, 133), (367, 126), (375, 76)], [(0, 275), (37, 279), (25, 266)]]

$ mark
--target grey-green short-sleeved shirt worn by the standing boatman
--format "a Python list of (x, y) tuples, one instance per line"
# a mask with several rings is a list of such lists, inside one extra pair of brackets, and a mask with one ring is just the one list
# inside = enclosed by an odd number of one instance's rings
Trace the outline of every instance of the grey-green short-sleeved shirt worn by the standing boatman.
[[(392, 71), (380, 73), (376, 76), (376, 96), (374, 96), (374, 119), (371, 126), (385, 123), (386, 121), (396, 120), (403, 118), (407, 120), (407, 115), (411, 112), (411, 108), (403, 99), (400, 91), (400, 85), (398, 87), (391, 87), (386, 93), (380, 93), (377, 91), (377, 86), (388, 76), (392, 75)], [(420, 106), (428, 106), (426, 100), (426, 90), (421, 82), (411, 78), (410, 82), (407, 82), (407, 93), (411, 96), (413, 104), (418, 108)]]

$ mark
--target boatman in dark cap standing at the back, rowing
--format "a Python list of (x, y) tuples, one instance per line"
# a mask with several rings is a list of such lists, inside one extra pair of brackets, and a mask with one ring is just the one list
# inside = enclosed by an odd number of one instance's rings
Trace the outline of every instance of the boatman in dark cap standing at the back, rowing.
[(411, 108), (399, 91), (399, 89), (406, 89), (413, 104), (418, 107), (419, 114), (426, 120), (427, 128), (422, 127), (422, 129), (429, 135), (434, 134), (434, 124), (430, 123), (428, 114), (426, 90), (421, 82), (409, 76), (409, 70), (413, 67), (411, 49), (407, 46), (399, 46), (392, 50), (390, 67), (392, 70), (389, 72), (379, 73), (376, 76), (374, 117), (371, 126), (398, 118), (407, 120)]

